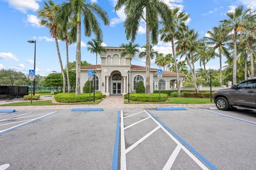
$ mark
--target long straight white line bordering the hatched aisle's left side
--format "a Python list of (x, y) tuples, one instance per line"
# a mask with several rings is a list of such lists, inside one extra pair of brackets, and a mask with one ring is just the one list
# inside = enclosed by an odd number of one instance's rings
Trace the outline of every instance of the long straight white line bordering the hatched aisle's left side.
[(126, 169), (126, 155), (125, 155), (125, 139), (124, 139), (124, 114), (121, 111), (121, 160), (120, 160), (121, 169)]

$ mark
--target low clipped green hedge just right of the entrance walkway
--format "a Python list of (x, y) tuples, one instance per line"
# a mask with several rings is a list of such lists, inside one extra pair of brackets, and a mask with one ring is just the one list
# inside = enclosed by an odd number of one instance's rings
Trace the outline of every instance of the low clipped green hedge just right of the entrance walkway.
[[(127, 99), (128, 95), (124, 95), (124, 99)], [(168, 98), (168, 95), (161, 94), (161, 101), (166, 101)], [(157, 102), (159, 101), (159, 94), (130, 94), (130, 100), (132, 101), (152, 101)]]

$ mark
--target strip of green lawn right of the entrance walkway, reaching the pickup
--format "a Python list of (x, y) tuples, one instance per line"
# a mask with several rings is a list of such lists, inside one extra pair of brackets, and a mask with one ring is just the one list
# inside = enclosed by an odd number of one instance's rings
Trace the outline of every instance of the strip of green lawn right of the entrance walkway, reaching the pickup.
[[(186, 98), (186, 97), (169, 97), (167, 101), (163, 102), (145, 102), (145, 101), (131, 101), (124, 100), (125, 104), (211, 104), (210, 99), (205, 98)], [(213, 102), (212, 102), (213, 104)]]

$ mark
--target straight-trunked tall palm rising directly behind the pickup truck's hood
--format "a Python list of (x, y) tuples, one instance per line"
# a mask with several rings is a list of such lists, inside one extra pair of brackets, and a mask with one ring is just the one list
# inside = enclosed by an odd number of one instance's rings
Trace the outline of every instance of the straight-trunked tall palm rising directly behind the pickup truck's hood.
[[(250, 10), (245, 10), (243, 6), (238, 6), (235, 8), (234, 12), (228, 12), (228, 20), (222, 20), (221, 22), (225, 23), (228, 26), (230, 31), (233, 31), (233, 84), (236, 84), (236, 75), (237, 75), (237, 33), (238, 31), (244, 30), (246, 25), (246, 19), (250, 18)], [(249, 21), (247, 21), (249, 22)]]

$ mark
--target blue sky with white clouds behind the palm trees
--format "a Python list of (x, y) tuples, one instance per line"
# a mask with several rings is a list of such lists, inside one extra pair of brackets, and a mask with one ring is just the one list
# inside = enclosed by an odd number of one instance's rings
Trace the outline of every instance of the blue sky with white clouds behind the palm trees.
[[(118, 47), (126, 40), (123, 23), (125, 14), (123, 9), (114, 10), (117, 0), (87, 0), (94, 2), (104, 8), (109, 16), (110, 25), (103, 25), (103, 43), (105, 46)], [(226, 19), (226, 13), (233, 11), (236, 6), (256, 8), (256, 0), (163, 0), (171, 7), (180, 7), (190, 15), (187, 25), (199, 33), (199, 38), (206, 35), (207, 30), (217, 26), (219, 21)], [(62, 3), (55, 0), (55, 3)], [(39, 25), (37, 11), (43, 6), (43, 0), (0, 0), (0, 69), (15, 69), (28, 74), (34, 64), (34, 44), (27, 40), (36, 40), (36, 74), (47, 75), (52, 71), (60, 72), (60, 64), (54, 39), (49, 30)], [(82, 26), (83, 27), (83, 26)], [(140, 46), (146, 44), (145, 23), (141, 22), (135, 43)], [(94, 38), (85, 37), (82, 32), (82, 60), (95, 64), (95, 55), (87, 52), (87, 41)], [(65, 43), (59, 42), (63, 65), (66, 65)], [(159, 53), (172, 53), (171, 44), (159, 41), (154, 49)], [(76, 46), (69, 46), (69, 61), (75, 61)], [(225, 65), (226, 58), (222, 64)], [(100, 62), (99, 62), (100, 63)], [(151, 67), (157, 67), (154, 60)], [(145, 66), (145, 59), (135, 56), (132, 64)], [(199, 63), (195, 64), (199, 68)], [(207, 68), (218, 69), (219, 58), (207, 63)]]

